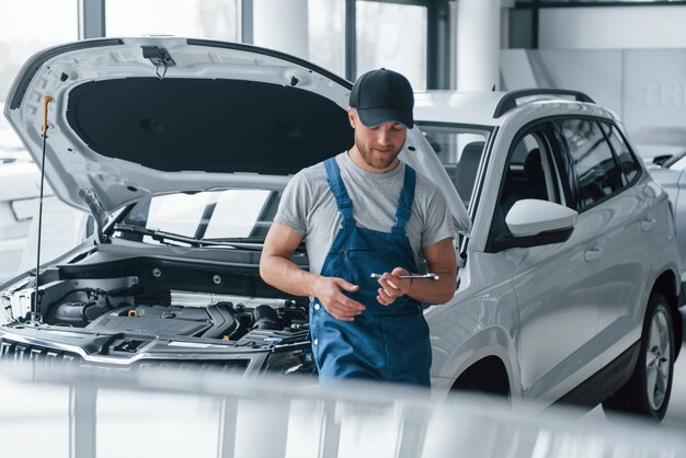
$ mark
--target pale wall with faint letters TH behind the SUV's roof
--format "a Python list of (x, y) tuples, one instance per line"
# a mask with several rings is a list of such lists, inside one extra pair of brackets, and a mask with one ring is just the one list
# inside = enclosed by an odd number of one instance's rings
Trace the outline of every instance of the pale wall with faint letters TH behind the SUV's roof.
[(503, 49), (504, 89), (576, 89), (614, 110), (645, 157), (686, 145), (686, 49)]

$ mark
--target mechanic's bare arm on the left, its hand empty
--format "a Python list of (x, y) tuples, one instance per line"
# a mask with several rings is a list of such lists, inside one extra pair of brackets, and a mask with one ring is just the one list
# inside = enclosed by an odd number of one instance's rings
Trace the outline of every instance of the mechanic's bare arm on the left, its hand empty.
[(325, 277), (298, 267), (290, 256), (302, 241), (302, 236), (286, 225), (274, 222), (264, 240), (260, 259), (260, 275), (270, 285), (295, 296), (317, 297), (334, 318), (353, 321), (365, 306), (345, 296), (341, 290), (357, 290), (343, 278)]

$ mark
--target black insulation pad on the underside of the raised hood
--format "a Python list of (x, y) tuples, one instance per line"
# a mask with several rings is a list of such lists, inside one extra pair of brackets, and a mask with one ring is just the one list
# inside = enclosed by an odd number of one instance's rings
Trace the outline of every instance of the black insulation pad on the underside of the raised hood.
[(293, 174), (353, 145), (332, 101), (244, 80), (92, 81), (69, 93), (67, 121), (96, 153), (165, 172)]

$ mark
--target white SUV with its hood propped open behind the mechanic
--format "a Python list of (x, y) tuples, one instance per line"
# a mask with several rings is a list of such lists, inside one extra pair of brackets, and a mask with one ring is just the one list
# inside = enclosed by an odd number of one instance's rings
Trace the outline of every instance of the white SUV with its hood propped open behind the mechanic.
[[(96, 230), (37, 288), (28, 274), (0, 285), (0, 356), (311, 374), (308, 299), (258, 264), (289, 176), (352, 145), (351, 87), (281, 53), (179, 37), (34, 56), (5, 115), (39, 159), (54, 99), (46, 173)], [(416, 96), (426, 136), (411, 129), (401, 157), (462, 232), (459, 289), (425, 308), (432, 382), (661, 419), (682, 332), (668, 199), (616, 117), (564, 95)]]

